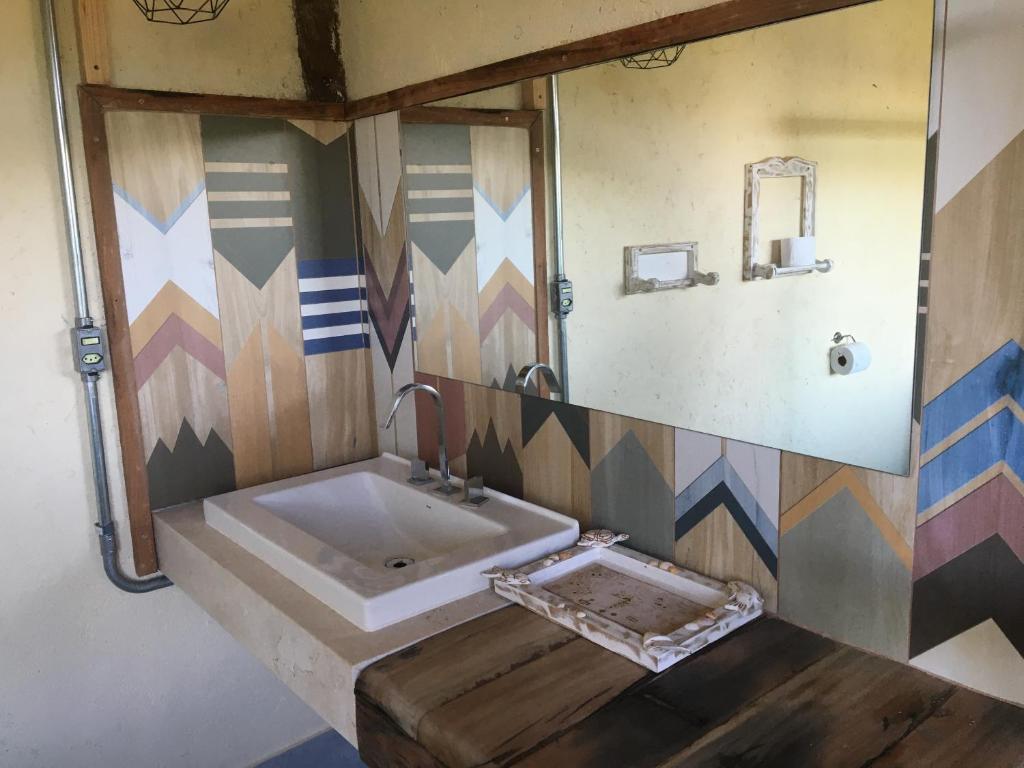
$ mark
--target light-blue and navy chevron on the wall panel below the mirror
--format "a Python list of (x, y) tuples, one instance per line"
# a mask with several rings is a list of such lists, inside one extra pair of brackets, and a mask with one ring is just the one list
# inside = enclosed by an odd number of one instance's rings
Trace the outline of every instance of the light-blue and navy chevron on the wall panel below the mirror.
[(725, 505), (772, 575), (778, 569), (778, 528), (723, 456), (676, 497), (676, 540)]

